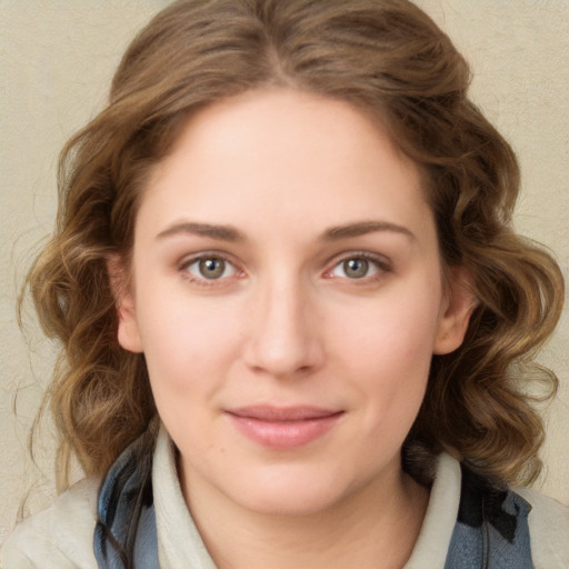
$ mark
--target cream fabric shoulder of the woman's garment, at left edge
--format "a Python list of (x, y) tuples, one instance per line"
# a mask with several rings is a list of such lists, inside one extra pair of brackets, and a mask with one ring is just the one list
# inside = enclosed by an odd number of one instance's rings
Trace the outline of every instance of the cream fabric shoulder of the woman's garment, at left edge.
[(99, 481), (81, 480), (16, 527), (2, 545), (3, 569), (97, 568), (93, 531)]

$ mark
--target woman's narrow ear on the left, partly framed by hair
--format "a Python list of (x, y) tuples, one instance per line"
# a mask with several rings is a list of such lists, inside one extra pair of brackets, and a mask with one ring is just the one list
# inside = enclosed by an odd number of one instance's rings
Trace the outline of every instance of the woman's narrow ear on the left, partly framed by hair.
[(126, 350), (140, 353), (143, 350), (134, 307), (134, 295), (129, 283), (127, 270), (119, 256), (113, 254), (107, 258), (107, 271), (119, 320), (117, 340)]

